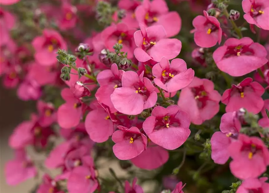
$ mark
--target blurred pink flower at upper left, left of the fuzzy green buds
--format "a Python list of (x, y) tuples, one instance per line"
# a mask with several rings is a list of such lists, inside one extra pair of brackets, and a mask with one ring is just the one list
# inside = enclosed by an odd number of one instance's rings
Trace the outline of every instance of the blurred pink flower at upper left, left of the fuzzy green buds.
[(45, 29), (42, 36), (36, 36), (32, 45), (36, 51), (35, 60), (40, 65), (50, 66), (57, 63), (57, 49), (67, 50), (67, 44), (55, 30)]

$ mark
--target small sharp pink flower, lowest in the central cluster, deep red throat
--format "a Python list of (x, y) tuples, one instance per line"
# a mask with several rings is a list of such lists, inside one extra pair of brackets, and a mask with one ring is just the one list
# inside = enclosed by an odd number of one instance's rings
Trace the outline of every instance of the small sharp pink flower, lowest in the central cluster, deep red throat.
[(120, 160), (130, 160), (147, 149), (147, 137), (137, 127), (118, 126), (112, 135), (113, 152)]

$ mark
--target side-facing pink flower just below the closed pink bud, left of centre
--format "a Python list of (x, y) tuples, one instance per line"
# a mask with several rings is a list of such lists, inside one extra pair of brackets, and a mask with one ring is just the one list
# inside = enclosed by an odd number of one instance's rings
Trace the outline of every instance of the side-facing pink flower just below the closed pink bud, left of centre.
[(82, 116), (82, 103), (75, 98), (69, 88), (61, 91), (62, 98), (66, 103), (62, 104), (57, 112), (57, 121), (62, 128), (72, 128), (80, 123)]

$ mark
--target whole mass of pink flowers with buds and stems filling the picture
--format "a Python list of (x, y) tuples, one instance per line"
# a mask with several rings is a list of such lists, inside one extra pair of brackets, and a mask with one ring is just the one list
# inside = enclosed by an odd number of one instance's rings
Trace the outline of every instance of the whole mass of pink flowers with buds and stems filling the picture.
[[(247, 28), (237, 27), (240, 14), (228, 13), (227, 0), (174, 3), (199, 14), (194, 29), (186, 32), (184, 15), (170, 11), (164, 0), (120, 0), (115, 7), (102, 1), (38, 2), (25, 24), (9, 6), (0, 8), (3, 85), (16, 88), (21, 100), (36, 100), (37, 109), (9, 138), (15, 152), (5, 166), (9, 185), (45, 168), (38, 193), (143, 193), (137, 168), (180, 176), (188, 156), (198, 155), (204, 164), (190, 164), (186, 168), (195, 169), (184, 174), (197, 187), (191, 190), (188, 182), (186, 190), (213, 192), (202, 181), (205, 166), (226, 163), (240, 180), (228, 192), (269, 190), (263, 176), (269, 165), (269, 42), (261, 41), (261, 30), (269, 30), (268, 1), (242, 1), (250, 30), (260, 30), (257, 41), (243, 37)], [(19, 0), (1, 4), (28, 6)], [(98, 32), (87, 24), (94, 17), (105, 25)], [(20, 26), (31, 29), (31, 36)], [(42, 166), (29, 148), (46, 155)], [(103, 178), (100, 157), (125, 164), (132, 184), (111, 168), (116, 183)], [(175, 160), (180, 165), (169, 168)], [(53, 176), (47, 169), (60, 172)], [(183, 193), (185, 185), (174, 177), (158, 191)]]

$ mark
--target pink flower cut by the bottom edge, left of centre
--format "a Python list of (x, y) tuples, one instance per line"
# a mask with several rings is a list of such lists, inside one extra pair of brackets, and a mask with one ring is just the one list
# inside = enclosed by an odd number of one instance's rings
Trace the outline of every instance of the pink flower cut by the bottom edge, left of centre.
[(67, 190), (70, 193), (93, 193), (98, 187), (93, 167), (75, 167), (67, 179)]

